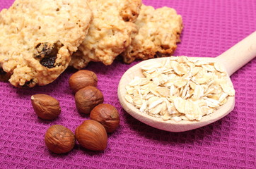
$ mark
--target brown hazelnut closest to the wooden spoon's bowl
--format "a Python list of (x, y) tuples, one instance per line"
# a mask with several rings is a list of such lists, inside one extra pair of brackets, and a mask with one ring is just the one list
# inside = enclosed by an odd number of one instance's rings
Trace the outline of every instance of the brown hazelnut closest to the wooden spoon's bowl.
[(110, 104), (99, 104), (91, 111), (90, 118), (98, 121), (107, 132), (114, 132), (120, 123), (117, 108)]

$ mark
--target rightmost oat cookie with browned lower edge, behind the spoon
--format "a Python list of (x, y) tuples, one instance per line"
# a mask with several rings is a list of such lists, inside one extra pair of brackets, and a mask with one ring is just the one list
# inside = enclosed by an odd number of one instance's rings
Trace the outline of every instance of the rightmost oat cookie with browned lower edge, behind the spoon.
[(182, 17), (173, 8), (142, 5), (135, 24), (139, 31), (132, 34), (131, 45), (120, 55), (124, 63), (171, 56), (180, 42)]

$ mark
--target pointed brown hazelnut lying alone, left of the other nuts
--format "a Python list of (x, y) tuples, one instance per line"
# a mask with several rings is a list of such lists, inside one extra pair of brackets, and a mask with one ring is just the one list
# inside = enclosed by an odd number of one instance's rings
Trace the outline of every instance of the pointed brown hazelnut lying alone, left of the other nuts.
[(31, 96), (31, 103), (37, 116), (45, 120), (57, 118), (61, 112), (59, 101), (47, 94)]

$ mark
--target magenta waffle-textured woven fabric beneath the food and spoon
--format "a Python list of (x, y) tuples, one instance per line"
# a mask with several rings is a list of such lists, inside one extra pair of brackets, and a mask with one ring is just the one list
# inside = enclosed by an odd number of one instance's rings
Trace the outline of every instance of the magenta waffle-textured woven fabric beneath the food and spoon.
[[(0, 0), (0, 9), (12, 2)], [(218, 56), (256, 28), (255, 0), (144, 0), (144, 4), (169, 6), (182, 15), (185, 28), (175, 56)], [(74, 132), (88, 119), (77, 112), (69, 89), (68, 79), (76, 70), (68, 69), (52, 84), (33, 89), (0, 82), (0, 168), (256, 168), (256, 59), (231, 76), (236, 97), (230, 114), (211, 125), (179, 133), (145, 125), (120, 106), (119, 80), (135, 63), (90, 63), (86, 68), (98, 75), (105, 103), (120, 111), (120, 127), (108, 135), (104, 152), (76, 144), (69, 154), (57, 155), (45, 146), (44, 134), (50, 125), (64, 125)], [(59, 118), (37, 118), (30, 96), (38, 93), (59, 100)]]

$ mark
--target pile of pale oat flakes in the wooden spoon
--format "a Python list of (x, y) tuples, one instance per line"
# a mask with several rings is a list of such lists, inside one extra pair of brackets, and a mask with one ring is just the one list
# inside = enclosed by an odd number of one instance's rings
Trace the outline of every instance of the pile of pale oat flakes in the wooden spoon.
[(125, 99), (163, 120), (202, 120), (234, 96), (233, 84), (221, 65), (186, 56), (141, 67), (144, 77), (127, 85)]

